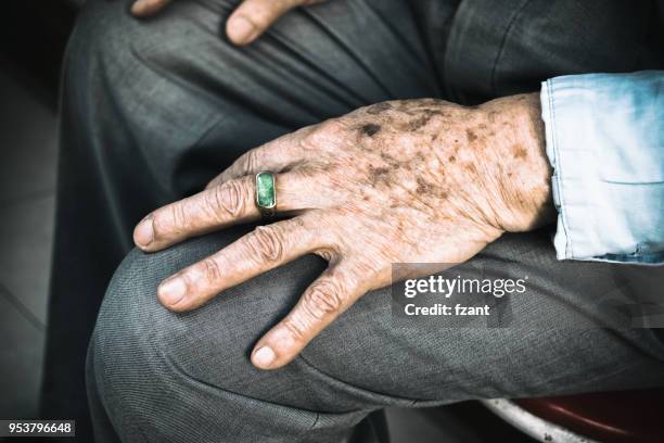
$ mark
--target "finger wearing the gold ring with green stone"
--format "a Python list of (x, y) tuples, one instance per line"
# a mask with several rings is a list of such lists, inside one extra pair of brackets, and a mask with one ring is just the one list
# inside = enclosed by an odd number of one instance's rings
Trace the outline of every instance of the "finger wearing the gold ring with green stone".
[[(277, 212), (306, 207), (303, 179), (292, 173), (274, 177)], [(255, 177), (246, 176), (163, 206), (137, 225), (133, 241), (143, 251), (158, 251), (190, 237), (258, 219), (255, 189)]]

